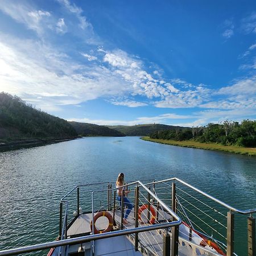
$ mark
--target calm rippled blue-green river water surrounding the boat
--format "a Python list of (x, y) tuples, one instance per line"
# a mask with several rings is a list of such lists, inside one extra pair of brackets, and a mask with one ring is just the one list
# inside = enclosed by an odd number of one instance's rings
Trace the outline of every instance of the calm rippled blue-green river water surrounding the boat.
[[(255, 167), (256, 158), (249, 156), (138, 137), (83, 138), (1, 152), (0, 249), (52, 241), (61, 196), (77, 184), (113, 181), (119, 172), (129, 180), (179, 177), (236, 208), (256, 208)], [(236, 233), (239, 247), (245, 234)]]

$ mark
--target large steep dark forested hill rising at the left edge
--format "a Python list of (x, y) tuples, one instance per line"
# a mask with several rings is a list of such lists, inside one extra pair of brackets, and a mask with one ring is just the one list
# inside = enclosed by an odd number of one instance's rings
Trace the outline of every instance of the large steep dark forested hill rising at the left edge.
[(76, 130), (66, 120), (35, 109), (16, 96), (0, 93), (0, 143), (76, 137)]

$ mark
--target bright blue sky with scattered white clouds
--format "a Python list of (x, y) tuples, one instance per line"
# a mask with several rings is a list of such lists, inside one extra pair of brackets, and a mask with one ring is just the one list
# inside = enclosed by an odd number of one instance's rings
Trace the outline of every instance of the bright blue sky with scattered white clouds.
[(0, 91), (100, 125), (256, 119), (256, 2), (2, 0)]

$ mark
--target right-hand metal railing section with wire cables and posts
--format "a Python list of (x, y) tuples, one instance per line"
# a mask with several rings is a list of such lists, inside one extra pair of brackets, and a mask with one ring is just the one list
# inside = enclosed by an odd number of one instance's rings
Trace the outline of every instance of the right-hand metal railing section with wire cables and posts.
[[(156, 185), (158, 184), (164, 184), (165, 186), (160, 187), (157, 191)], [(175, 191), (171, 191), (171, 187), (173, 187), (173, 185), (175, 184)], [(180, 185), (178, 187), (178, 184), (183, 185), (183, 187), (181, 188)], [(210, 196), (208, 193), (201, 191), (193, 185), (190, 185), (185, 181), (178, 179), (177, 177), (166, 180), (155, 180), (154, 182), (147, 183), (145, 185), (154, 185), (156, 195), (158, 195), (159, 197), (161, 197), (161, 194), (165, 196), (165, 202), (170, 200), (171, 198), (171, 205), (175, 205), (175, 208), (172, 208), (174, 212), (178, 212), (180, 216), (184, 218), (184, 220), (187, 220), (191, 228), (197, 229), (197, 233), (201, 233), (204, 236), (214, 240), (212, 234), (207, 234), (205, 230), (201, 228), (204, 225), (206, 228), (208, 228), (208, 230), (211, 229), (214, 234), (217, 234), (218, 237), (224, 238), (224, 242), (218, 240), (214, 241), (218, 242), (218, 245), (220, 245), (220, 247), (222, 247), (222, 249), (226, 251), (226, 255), (228, 256), (236, 255), (234, 253), (234, 213), (242, 214), (243, 216), (247, 215), (247, 255), (254, 256), (256, 254), (255, 218), (253, 217), (253, 213), (256, 212), (256, 208), (246, 210), (237, 209), (229, 204), (224, 203), (219, 199), (216, 199), (216, 197)], [(165, 189), (165, 191), (161, 193), (161, 189)], [(166, 191), (168, 190), (170, 195), (168, 195), (167, 197), (170, 197), (169, 199), (167, 199), (166, 197)], [(159, 191), (160, 193), (158, 193)], [(197, 196), (193, 195), (192, 192), (197, 193)], [(210, 199), (210, 201), (208, 200), (207, 202), (205, 202), (203, 198), (199, 199), (198, 195), (200, 195), (201, 197), (203, 196), (205, 199)], [(223, 212), (223, 210), (214, 207), (213, 204), (209, 204), (209, 202), (216, 203), (217, 205), (228, 209), (228, 212)], [(205, 209), (203, 209), (203, 207), (205, 207)], [(214, 214), (210, 214), (211, 212)], [(217, 215), (222, 217), (222, 221), (219, 221), (216, 218)], [(207, 218), (209, 222), (213, 222), (213, 226), (209, 225)], [(201, 224), (203, 225), (196, 225), (197, 221), (201, 221)], [(193, 225), (195, 225), (195, 227)], [(218, 230), (214, 228), (215, 226), (220, 226), (222, 232), (218, 232)], [(190, 237), (188, 237), (188, 239), (189, 238)]]

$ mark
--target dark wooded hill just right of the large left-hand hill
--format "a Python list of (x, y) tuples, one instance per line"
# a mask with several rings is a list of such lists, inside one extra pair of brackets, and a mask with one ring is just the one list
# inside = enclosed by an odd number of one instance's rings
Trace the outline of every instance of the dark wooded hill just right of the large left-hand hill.
[(77, 134), (82, 136), (125, 136), (120, 131), (110, 129), (103, 125), (93, 125), (92, 123), (69, 122), (76, 130)]

